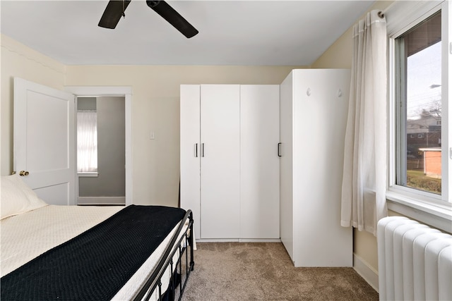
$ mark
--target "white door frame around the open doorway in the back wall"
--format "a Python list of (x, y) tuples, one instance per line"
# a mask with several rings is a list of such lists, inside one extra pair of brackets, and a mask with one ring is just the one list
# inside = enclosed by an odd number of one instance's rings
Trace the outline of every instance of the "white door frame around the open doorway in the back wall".
[[(132, 88), (111, 86), (66, 86), (75, 97), (124, 97), (126, 125), (126, 206), (132, 204)], [(77, 183), (78, 185), (78, 183)], [(78, 187), (76, 187), (76, 191)]]

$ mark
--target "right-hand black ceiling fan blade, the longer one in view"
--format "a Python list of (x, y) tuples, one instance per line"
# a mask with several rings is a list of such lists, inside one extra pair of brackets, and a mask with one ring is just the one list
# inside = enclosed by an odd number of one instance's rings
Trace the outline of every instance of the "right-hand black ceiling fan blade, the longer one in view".
[(156, 13), (158, 13), (162, 18), (167, 20), (169, 24), (173, 25), (182, 35), (190, 38), (198, 34), (193, 25), (191, 25), (187, 20), (184, 19), (177, 11), (174, 10), (165, 1), (146, 1), (146, 4), (152, 8)]

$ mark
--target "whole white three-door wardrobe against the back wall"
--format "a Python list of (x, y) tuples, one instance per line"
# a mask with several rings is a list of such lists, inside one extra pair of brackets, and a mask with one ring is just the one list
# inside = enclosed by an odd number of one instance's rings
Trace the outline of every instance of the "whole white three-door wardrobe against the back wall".
[(279, 85), (180, 93), (180, 203), (196, 239), (278, 239)]

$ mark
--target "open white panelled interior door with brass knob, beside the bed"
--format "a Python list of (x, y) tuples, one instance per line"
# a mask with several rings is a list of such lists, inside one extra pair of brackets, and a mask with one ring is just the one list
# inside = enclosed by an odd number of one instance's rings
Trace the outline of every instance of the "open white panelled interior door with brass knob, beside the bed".
[(49, 204), (76, 204), (74, 109), (73, 94), (14, 78), (13, 168)]

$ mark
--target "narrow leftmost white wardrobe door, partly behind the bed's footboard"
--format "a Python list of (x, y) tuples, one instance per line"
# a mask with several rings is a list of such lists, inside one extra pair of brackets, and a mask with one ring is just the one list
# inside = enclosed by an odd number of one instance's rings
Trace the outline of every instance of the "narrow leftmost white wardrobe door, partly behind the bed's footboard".
[(181, 207), (191, 209), (195, 238), (200, 238), (200, 85), (181, 85)]

